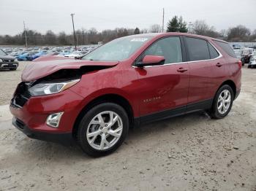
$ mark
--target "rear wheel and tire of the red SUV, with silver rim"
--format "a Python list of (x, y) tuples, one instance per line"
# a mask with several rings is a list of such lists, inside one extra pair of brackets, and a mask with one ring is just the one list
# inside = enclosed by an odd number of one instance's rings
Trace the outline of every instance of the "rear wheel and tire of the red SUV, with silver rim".
[[(228, 102), (225, 102), (225, 101), (228, 101), (229, 97), (227, 97), (223, 101), (223, 98), (225, 98), (225, 95), (226, 95), (225, 93), (227, 93), (227, 92), (230, 95), (230, 103), (229, 104), (228, 104)], [(233, 90), (229, 85), (223, 85), (222, 87), (220, 87), (214, 97), (214, 102), (211, 106), (211, 111), (209, 113), (211, 115), (211, 117), (213, 117), (214, 119), (222, 119), (225, 116), (227, 116), (227, 114), (230, 112), (230, 109), (232, 108), (232, 105), (233, 105), (233, 98), (234, 98), (233, 96), (234, 96)], [(220, 98), (220, 97), (222, 97), (222, 98)], [(223, 106), (224, 103), (225, 103), (225, 106)], [(218, 109), (218, 106), (219, 107), (221, 106), (220, 109)]]

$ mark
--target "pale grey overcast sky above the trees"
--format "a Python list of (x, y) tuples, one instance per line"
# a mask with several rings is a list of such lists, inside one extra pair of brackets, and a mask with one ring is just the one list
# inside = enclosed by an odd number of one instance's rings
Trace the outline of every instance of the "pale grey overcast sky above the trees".
[(184, 20), (206, 20), (218, 31), (242, 24), (256, 29), (256, 0), (0, 0), (0, 34), (18, 34), (26, 28), (45, 33), (72, 32), (70, 13), (75, 13), (75, 28), (98, 31), (116, 27), (149, 28), (165, 26), (173, 15)]

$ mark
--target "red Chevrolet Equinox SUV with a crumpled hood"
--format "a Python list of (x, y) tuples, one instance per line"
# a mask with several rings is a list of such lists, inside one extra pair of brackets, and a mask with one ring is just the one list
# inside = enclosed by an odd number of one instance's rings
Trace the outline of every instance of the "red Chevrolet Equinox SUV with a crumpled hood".
[[(227, 42), (192, 34), (115, 39), (80, 60), (26, 66), (10, 104), (27, 136), (77, 140), (92, 156), (117, 149), (129, 127), (206, 110), (225, 117), (241, 89), (241, 61)], [(157, 127), (156, 127), (157, 128)]]

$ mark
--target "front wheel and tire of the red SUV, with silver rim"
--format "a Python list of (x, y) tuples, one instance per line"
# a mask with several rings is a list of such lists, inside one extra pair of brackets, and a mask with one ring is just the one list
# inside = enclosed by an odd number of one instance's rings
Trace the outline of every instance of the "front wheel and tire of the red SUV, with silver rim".
[[(113, 114), (112, 125), (110, 114)], [(80, 121), (78, 143), (92, 157), (108, 155), (123, 143), (128, 130), (128, 115), (121, 106), (113, 103), (99, 104), (86, 112)]]

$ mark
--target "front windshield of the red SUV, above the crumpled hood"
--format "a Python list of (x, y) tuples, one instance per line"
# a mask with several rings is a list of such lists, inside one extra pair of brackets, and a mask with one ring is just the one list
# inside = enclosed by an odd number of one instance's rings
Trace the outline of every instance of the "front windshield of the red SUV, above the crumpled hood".
[(148, 42), (152, 36), (126, 36), (115, 39), (85, 55), (86, 61), (123, 61)]

